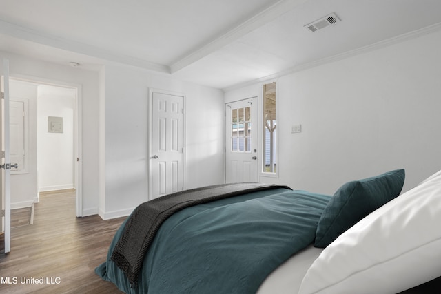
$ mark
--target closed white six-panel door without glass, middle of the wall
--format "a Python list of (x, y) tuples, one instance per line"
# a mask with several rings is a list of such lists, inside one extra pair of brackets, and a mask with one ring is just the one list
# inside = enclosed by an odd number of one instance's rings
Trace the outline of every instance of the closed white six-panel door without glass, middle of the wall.
[(184, 96), (150, 92), (150, 198), (183, 190)]

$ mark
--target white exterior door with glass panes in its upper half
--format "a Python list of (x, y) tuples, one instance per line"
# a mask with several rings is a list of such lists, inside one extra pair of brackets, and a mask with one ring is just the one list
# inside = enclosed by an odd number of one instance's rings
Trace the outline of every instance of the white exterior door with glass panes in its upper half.
[(258, 182), (257, 97), (225, 106), (225, 182)]

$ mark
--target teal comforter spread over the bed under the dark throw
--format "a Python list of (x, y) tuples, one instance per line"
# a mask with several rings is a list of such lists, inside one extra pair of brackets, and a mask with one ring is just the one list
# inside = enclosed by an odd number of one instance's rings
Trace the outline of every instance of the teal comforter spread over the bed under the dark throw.
[(95, 271), (125, 293), (256, 293), (269, 273), (314, 242), (329, 199), (274, 189), (178, 211), (156, 233), (133, 288), (110, 260), (122, 224)]

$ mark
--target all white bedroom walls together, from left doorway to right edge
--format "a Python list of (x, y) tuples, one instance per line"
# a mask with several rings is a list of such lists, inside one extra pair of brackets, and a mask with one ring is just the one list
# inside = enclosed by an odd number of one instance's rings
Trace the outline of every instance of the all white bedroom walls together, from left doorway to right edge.
[[(439, 48), (435, 32), (278, 78), (280, 174), (260, 180), (331, 194), (348, 180), (404, 168), (407, 190), (441, 169)], [(147, 199), (149, 87), (187, 96), (185, 188), (223, 182), (222, 91), (114, 64), (91, 72), (1, 57), (11, 76), (81, 87), (83, 215), (122, 216)], [(229, 91), (225, 101), (256, 95), (260, 85)], [(302, 133), (291, 134), (297, 124)]]

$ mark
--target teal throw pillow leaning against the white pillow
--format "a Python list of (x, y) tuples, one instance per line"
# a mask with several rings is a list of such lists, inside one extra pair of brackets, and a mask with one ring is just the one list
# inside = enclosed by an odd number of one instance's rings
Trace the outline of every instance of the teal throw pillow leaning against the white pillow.
[(404, 169), (347, 182), (336, 191), (318, 221), (314, 246), (325, 248), (336, 238), (393, 198), (404, 185)]

